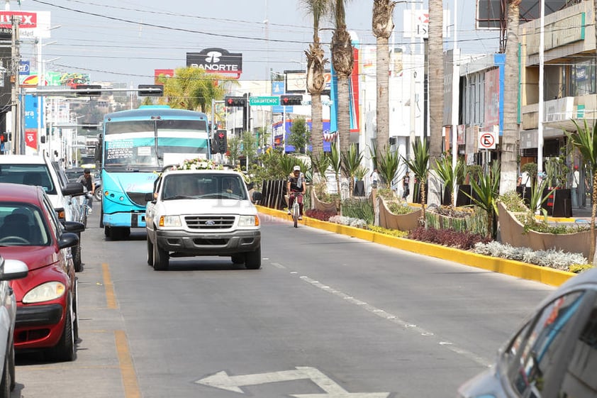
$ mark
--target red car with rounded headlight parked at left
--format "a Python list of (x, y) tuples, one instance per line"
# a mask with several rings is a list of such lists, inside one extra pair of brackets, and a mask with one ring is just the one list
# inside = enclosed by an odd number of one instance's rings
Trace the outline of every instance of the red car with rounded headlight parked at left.
[(41, 187), (0, 183), (0, 255), (21, 260), (28, 276), (11, 282), (17, 310), (17, 352), (45, 349), (50, 359), (76, 357), (77, 279), (70, 248), (82, 223), (60, 223)]

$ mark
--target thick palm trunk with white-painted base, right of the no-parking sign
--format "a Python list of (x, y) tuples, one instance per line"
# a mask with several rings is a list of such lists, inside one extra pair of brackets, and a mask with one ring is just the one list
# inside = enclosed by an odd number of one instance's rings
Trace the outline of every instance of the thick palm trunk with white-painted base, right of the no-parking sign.
[(507, 0), (508, 23), (506, 40), (506, 64), (504, 65), (503, 136), (501, 142), (500, 193), (516, 189), (518, 149), (518, 25), (520, 0)]

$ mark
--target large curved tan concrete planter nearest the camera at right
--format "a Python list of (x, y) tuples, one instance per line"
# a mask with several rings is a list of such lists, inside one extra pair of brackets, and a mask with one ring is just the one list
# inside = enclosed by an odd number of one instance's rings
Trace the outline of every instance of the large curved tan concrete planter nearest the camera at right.
[(591, 231), (575, 233), (527, 231), (525, 233), (525, 227), (516, 219), (516, 214), (508, 211), (501, 203), (498, 204), (498, 216), (502, 243), (532, 250), (556, 249), (568, 253), (581, 253), (588, 258), (591, 250)]

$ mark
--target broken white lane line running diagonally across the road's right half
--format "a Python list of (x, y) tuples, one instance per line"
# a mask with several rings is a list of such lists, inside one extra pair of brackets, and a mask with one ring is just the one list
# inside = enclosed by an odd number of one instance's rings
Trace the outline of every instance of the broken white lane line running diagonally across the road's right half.
[[(296, 274), (296, 272), (291, 272), (291, 273)], [(355, 305), (359, 306), (360, 308), (365, 309), (366, 311), (369, 311), (372, 314), (375, 314), (376, 316), (380, 316), (381, 318), (386, 319), (387, 321), (390, 321), (390, 322), (400, 326), (401, 328), (404, 328), (408, 331), (413, 331), (414, 333), (418, 333), (420, 336), (424, 336), (424, 337), (435, 336), (435, 333), (433, 333), (431, 331), (427, 331), (427, 330), (425, 330), (425, 328), (421, 328), (420, 326), (411, 324), (410, 322), (401, 319), (399, 316), (396, 316), (394, 314), (389, 314), (388, 312), (384, 311), (383, 309), (376, 308), (375, 306), (372, 306), (371, 304), (367, 304), (366, 302), (362, 302), (359, 299), (355, 299), (355, 297), (349, 296), (348, 294), (345, 294), (345, 293), (341, 292), (340, 290), (333, 289), (330, 286), (322, 284), (317, 280), (313, 280), (310, 277), (307, 277), (304, 275), (301, 276), (300, 278), (304, 282), (307, 282), (307, 283), (311, 284), (312, 286), (323, 290), (324, 292), (328, 292), (330, 294), (333, 294), (336, 297), (345, 299), (347, 302), (350, 302), (351, 304), (355, 304)], [(450, 341), (437, 341), (437, 344), (439, 346), (447, 348), (448, 350), (452, 351), (453, 353), (462, 355), (462, 356), (468, 358), (469, 360), (472, 360), (474, 363), (478, 363), (479, 365), (486, 366), (486, 367), (489, 367), (491, 365), (491, 363), (488, 360), (486, 360), (486, 358), (482, 358), (479, 355), (476, 355), (475, 353), (472, 353), (469, 350), (465, 350), (464, 348), (459, 348), (459, 347), (455, 346), (454, 343), (451, 343)]]

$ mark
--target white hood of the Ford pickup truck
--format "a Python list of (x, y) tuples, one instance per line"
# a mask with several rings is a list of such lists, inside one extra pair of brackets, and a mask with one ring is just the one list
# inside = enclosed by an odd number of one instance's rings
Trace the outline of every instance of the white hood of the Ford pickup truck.
[(177, 199), (162, 201), (164, 214), (257, 214), (248, 200)]

